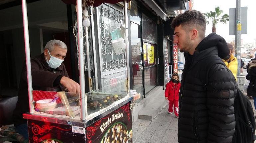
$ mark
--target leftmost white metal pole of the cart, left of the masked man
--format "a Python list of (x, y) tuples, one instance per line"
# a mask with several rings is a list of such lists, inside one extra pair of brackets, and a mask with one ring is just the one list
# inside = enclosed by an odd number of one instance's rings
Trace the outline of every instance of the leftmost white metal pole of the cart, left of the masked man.
[(27, 64), (27, 80), (28, 80), (28, 93), (29, 93), (29, 111), (34, 113), (33, 95), (32, 95), (32, 77), (31, 77), (31, 63), (30, 63), (30, 48), (29, 48), (29, 26), (28, 26), (28, 14), (27, 14), (27, 1), (22, 0), (22, 16), (23, 16), (23, 30), (24, 30), (24, 42), (25, 42), (25, 54)]

